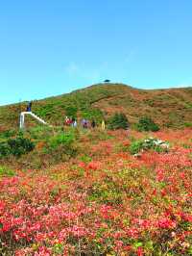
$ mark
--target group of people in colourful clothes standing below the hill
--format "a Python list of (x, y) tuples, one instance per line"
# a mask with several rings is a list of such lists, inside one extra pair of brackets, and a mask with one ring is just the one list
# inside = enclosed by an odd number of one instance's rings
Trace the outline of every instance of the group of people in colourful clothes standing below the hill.
[[(78, 122), (74, 117), (65, 117), (64, 120), (64, 125), (66, 126), (72, 126), (72, 127), (77, 127), (78, 126)], [(97, 126), (96, 121), (94, 119), (92, 119), (91, 121), (88, 119), (83, 118), (81, 121), (81, 126), (84, 129), (88, 129), (88, 128), (95, 128)], [(102, 122), (102, 129), (105, 130), (105, 121), (103, 120)]]

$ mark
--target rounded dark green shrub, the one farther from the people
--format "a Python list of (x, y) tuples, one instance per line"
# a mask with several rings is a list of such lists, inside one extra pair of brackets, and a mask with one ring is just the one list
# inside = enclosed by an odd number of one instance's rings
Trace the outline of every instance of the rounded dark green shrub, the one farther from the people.
[(136, 124), (136, 129), (140, 132), (143, 132), (143, 131), (156, 132), (159, 130), (159, 127), (151, 117), (143, 116), (139, 119), (138, 123)]

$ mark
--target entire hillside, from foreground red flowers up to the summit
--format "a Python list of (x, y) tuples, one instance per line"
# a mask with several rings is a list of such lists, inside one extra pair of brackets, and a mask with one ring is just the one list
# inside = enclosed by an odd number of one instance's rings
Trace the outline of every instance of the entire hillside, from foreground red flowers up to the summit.
[[(192, 89), (97, 85), (33, 111), (57, 125), (65, 113), (99, 121), (122, 111), (181, 127), (192, 123), (191, 99)], [(2, 129), (25, 107), (1, 107)], [(0, 132), (0, 255), (192, 255), (192, 127), (62, 128)]]

